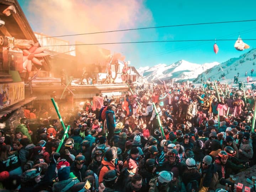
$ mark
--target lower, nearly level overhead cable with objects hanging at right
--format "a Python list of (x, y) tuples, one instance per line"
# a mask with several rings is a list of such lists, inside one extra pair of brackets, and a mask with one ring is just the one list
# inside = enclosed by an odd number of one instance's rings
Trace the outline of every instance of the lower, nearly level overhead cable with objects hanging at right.
[[(166, 43), (166, 42), (197, 42), (197, 41), (236, 41), (237, 39), (193, 39), (193, 40), (166, 40), (166, 41), (134, 41), (134, 42), (113, 42), (113, 43), (85, 43), (69, 45), (48, 45), (41, 47), (58, 47), (58, 46), (81, 46), (81, 45), (108, 45), (108, 44), (132, 44), (132, 43)], [(243, 41), (255, 41), (256, 39), (243, 39)]]

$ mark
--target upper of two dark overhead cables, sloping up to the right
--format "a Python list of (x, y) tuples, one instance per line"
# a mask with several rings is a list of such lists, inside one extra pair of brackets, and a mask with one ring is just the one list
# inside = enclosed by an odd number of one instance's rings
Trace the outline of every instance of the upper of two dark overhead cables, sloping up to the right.
[(158, 27), (141, 27), (141, 28), (124, 29), (124, 30), (112, 30), (112, 31), (92, 32), (92, 33), (69, 34), (69, 35), (60, 35), (60, 36), (52, 36), (52, 37), (39, 37), (38, 39), (53, 38), (53, 37), (66, 37), (66, 36), (78, 36), (78, 35), (98, 34), (98, 33), (111, 33), (111, 32), (119, 32), (119, 31), (144, 30), (144, 29), (153, 29), (153, 28), (164, 28), (164, 27), (181, 27), (181, 26), (192, 26), (192, 25), (210, 25), (210, 24), (219, 24), (219, 23), (238, 23), (238, 22), (251, 22), (251, 21), (256, 21), (256, 20), (220, 21), (220, 22), (207, 22), (207, 23), (191, 23), (191, 24), (180, 24), (180, 25), (167, 25), (167, 26), (158, 26)]

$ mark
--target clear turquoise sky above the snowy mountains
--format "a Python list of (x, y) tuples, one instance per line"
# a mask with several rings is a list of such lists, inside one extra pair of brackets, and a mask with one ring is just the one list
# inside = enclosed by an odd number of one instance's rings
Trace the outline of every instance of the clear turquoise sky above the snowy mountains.
[[(29, 0), (18, 0), (25, 15), (30, 22), (32, 14), (27, 9)], [(62, 1), (59, 1), (61, 3)], [(140, 1), (152, 14), (152, 20), (143, 25), (140, 22), (137, 27), (179, 25), (188, 23), (220, 22), (254, 20), (256, 1), (238, 0), (148, 0)], [(75, 10), (74, 10), (75, 11)], [(101, 14), (101, 13), (98, 13)], [(44, 32), (40, 23), (30, 22), (34, 31)], [(123, 29), (122, 27), (118, 29)], [(118, 30), (113, 28), (112, 30)], [(200, 26), (182, 26), (170, 28), (158, 28), (139, 30), (134, 38), (133, 32), (126, 32), (122, 38), (123, 42), (128, 41), (161, 41), (161, 40), (191, 40), (191, 39), (217, 39), (219, 52), (213, 52), (212, 42), (175, 42), (175, 43), (140, 43), (124, 44), (118, 51), (126, 55), (132, 65), (153, 66), (159, 63), (171, 64), (184, 59), (191, 63), (225, 62), (226, 60), (239, 57), (252, 48), (255, 48), (256, 41), (245, 41), (250, 49), (242, 52), (234, 48), (235, 41), (218, 41), (218, 39), (237, 39), (239, 34), (242, 39), (256, 39), (256, 22), (224, 23)], [(60, 34), (49, 34), (60, 35)]]

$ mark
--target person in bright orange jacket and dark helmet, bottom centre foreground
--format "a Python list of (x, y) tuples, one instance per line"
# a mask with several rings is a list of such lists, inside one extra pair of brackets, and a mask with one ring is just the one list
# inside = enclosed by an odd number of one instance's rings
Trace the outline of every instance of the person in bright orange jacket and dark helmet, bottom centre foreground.
[(123, 161), (117, 160), (117, 149), (112, 147), (105, 153), (105, 158), (102, 159), (101, 164), (103, 165), (99, 173), (99, 183), (103, 182), (103, 176), (109, 170), (117, 170), (119, 172), (119, 165), (123, 165)]

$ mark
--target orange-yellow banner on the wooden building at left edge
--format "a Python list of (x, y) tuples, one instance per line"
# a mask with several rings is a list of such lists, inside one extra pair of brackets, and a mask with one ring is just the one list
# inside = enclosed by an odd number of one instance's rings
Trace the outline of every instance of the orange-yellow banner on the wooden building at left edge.
[(25, 99), (24, 82), (0, 84), (0, 110)]

